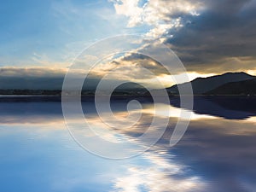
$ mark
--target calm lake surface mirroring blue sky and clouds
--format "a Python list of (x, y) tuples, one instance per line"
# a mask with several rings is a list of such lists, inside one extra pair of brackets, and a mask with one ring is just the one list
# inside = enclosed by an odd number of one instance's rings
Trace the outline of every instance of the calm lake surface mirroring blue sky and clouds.
[[(195, 110), (183, 139), (168, 143), (177, 121), (177, 99), (164, 136), (150, 150), (126, 160), (107, 160), (80, 148), (67, 131), (61, 102), (0, 99), (0, 191), (208, 191), (256, 190), (255, 98), (195, 98)], [(116, 115), (125, 101), (113, 103)], [(145, 118), (126, 137), (145, 131), (153, 104), (143, 102)], [(92, 102), (85, 113), (97, 122)], [(97, 144), (97, 143), (95, 143)], [(116, 153), (119, 153), (117, 151)]]

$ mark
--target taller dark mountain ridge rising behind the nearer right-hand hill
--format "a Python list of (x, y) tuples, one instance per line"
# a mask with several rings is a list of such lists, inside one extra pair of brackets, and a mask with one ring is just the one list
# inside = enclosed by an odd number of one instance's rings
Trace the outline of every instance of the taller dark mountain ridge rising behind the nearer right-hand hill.
[[(214, 90), (221, 85), (238, 82), (248, 79), (254, 79), (255, 77), (247, 73), (224, 73), (222, 75), (212, 76), (208, 78), (197, 78), (191, 81), (193, 92), (195, 95), (204, 94), (210, 90)], [(189, 83), (178, 84), (180, 87), (188, 86)], [(172, 94), (178, 94), (177, 85), (167, 88), (167, 91)]]

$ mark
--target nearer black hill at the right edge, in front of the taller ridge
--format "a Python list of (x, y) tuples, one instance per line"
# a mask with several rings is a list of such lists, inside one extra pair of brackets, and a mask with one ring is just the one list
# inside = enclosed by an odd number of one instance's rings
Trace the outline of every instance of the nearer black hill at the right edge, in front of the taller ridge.
[(223, 84), (214, 90), (207, 91), (206, 95), (256, 96), (256, 78)]

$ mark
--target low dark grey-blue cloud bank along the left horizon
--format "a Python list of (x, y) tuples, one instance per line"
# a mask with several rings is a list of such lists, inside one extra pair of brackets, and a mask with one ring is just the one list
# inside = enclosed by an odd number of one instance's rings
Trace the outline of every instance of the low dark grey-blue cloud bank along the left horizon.
[[(3, 67), (0, 68), (0, 90), (61, 90), (65, 74), (65, 69)], [(75, 77), (84, 78), (83, 73), (76, 73)], [(86, 88), (94, 89), (99, 80), (91, 75), (87, 81)]]

